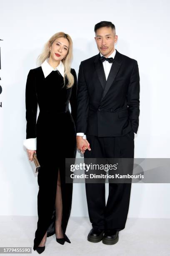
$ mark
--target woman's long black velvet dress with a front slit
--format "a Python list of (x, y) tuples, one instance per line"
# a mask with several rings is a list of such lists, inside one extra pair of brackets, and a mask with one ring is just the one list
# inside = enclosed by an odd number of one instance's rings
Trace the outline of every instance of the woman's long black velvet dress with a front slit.
[[(38, 222), (33, 249), (39, 246), (47, 231), (47, 237), (55, 234), (55, 197), (58, 170), (60, 171), (62, 194), (62, 230), (65, 233), (72, 203), (72, 183), (65, 182), (65, 158), (76, 154), (76, 99), (77, 76), (72, 88), (67, 89), (58, 71), (46, 78), (41, 67), (28, 73), (26, 100), (26, 138), (37, 138), (37, 159), (40, 169), (37, 176)], [(66, 77), (67, 84), (67, 77)], [(69, 110), (69, 101), (71, 113)], [(40, 108), (37, 121), (37, 104)]]

